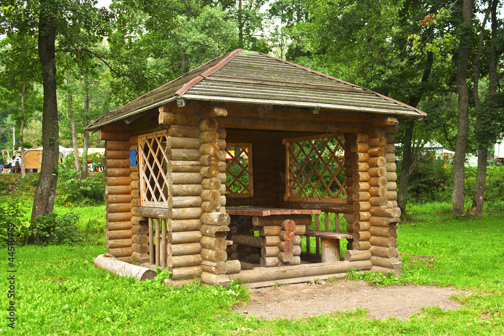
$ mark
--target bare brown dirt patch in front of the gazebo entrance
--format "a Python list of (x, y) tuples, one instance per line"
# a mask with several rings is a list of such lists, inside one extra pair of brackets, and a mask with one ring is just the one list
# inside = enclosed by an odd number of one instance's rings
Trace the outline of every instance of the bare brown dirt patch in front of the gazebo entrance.
[(370, 318), (407, 319), (421, 307), (457, 309), (460, 303), (452, 295), (470, 294), (453, 288), (396, 285), (376, 288), (363, 281), (322, 282), (320, 285), (294, 284), (251, 289), (250, 302), (233, 309), (245, 316), (263, 318), (299, 318), (338, 310), (365, 308)]

